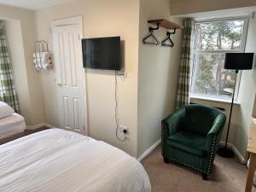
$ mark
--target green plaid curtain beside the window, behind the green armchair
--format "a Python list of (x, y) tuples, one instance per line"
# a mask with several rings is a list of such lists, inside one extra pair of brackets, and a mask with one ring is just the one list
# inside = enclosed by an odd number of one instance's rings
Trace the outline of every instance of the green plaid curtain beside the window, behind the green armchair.
[(195, 30), (194, 20), (184, 20), (183, 48), (177, 82), (176, 108), (189, 104), (191, 48)]

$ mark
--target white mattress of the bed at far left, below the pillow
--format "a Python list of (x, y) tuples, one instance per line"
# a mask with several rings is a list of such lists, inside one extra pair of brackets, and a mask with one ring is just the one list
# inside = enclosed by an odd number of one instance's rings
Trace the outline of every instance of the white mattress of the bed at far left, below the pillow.
[(25, 120), (18, 113), (12, 113), (9, 117), (0, 119), (0, 135), (6, 135), (13, 131), (21, 132), (24, 131), (25, 128)]

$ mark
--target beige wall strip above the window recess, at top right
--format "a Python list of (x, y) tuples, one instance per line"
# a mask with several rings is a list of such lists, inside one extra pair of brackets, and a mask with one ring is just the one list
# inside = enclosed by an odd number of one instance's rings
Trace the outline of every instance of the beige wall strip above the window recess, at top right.
[(255, 6), (255, 0), (172, 0), (172, 15), (188, 15), (220, 9)]

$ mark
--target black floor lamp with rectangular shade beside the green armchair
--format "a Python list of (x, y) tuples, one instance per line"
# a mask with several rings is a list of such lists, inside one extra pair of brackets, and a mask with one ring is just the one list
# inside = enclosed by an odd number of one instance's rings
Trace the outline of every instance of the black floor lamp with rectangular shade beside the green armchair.
[[(237, 78), (237, 73), (239, 70), (250, 70), (253, 68), (253, 56), (254, 56), (253, 53), (227, 53), (225, 56), (224, 69), (236, 70), (236, 78)], [(231, 121), (232, 110), (233, 110), (235, 90), (236, 90), (236, 79), (235, 79), (235, 86), (232, 94), (232, 102), (230, 107), (230, 119), (229, 119), (225, 145), (224, 147), (219, 147), (217, 151), (217, 154), (219, 156), (222, 156), (225, 158), (231, 158), (234, 156), (234, 152), (230, 148), (227, 148), (227, 143), (228, 143), (229, 133), (230, 133), (230, 121)]]

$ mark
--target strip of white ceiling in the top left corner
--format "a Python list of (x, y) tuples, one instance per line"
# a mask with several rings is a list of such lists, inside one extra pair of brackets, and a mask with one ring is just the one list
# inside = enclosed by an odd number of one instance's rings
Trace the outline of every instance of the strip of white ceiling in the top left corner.
[(73, 0), (0, 0), (0, 4), (24, 9), (38, 10), (71, 1)]

